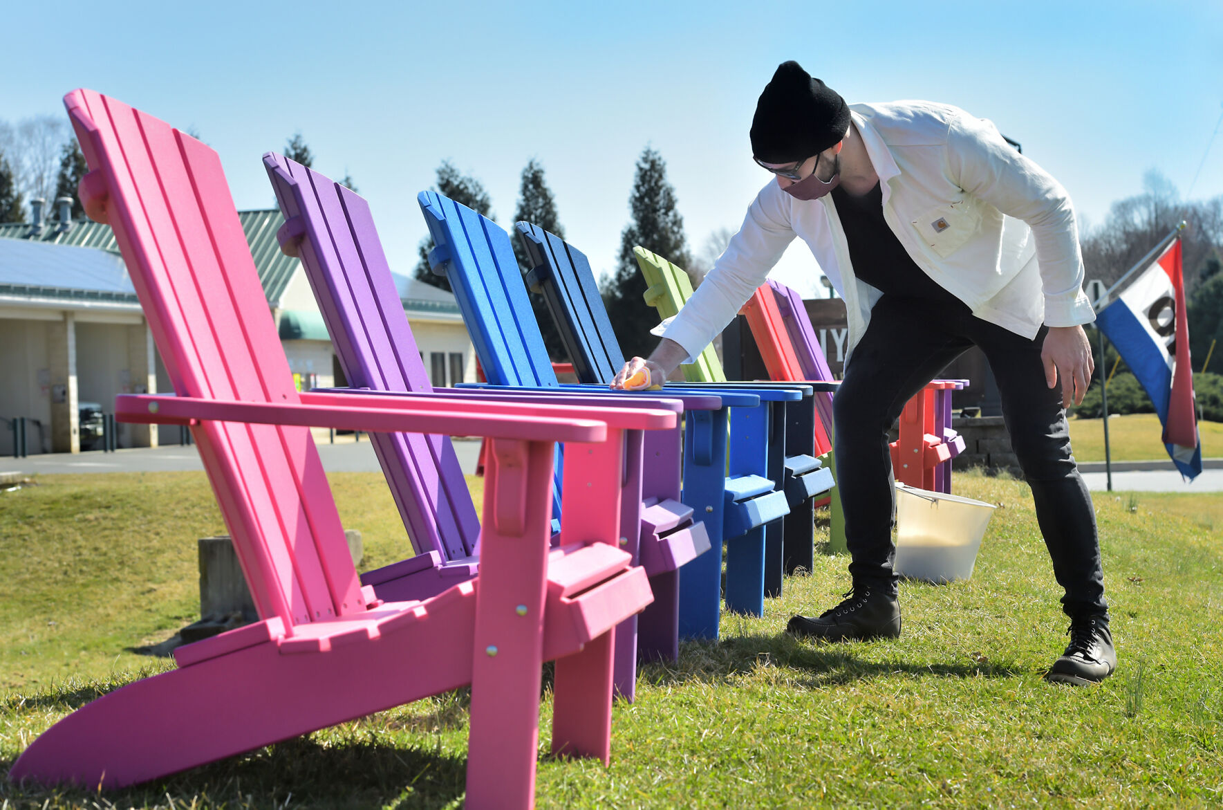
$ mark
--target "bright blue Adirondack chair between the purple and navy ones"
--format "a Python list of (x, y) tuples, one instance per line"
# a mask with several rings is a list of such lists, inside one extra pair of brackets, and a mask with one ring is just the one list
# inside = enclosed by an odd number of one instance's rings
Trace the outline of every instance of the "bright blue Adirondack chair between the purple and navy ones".
[[(489, 382), (563, 389), (534, 321), (509, 234), (442, 195), (422, 192), (418, 199), (435, 243), (429, 262), (434, 272), (449, 279)], [(768, 478), (768, 407), (762, 405), (761, 395), (719, 393), (723, 407), (695, 406), (686, 414), (681, 500), (706, 521), (714, 551), (680, 569), (680, 634), (685, 637), (717, 639), (723, 541), (728, 548), (728, 608), (763, 613), (763, 527), (783, 518), (789, 508), (784, 493), (774, 492)], [(800, 396), (796, 392), (777, 395)], [(735, 437), (729, 454), (728, 416)], [(647, 458), (658, 456), (647, 449)], [(654, 600), (659, 600), (657, 590)]]

